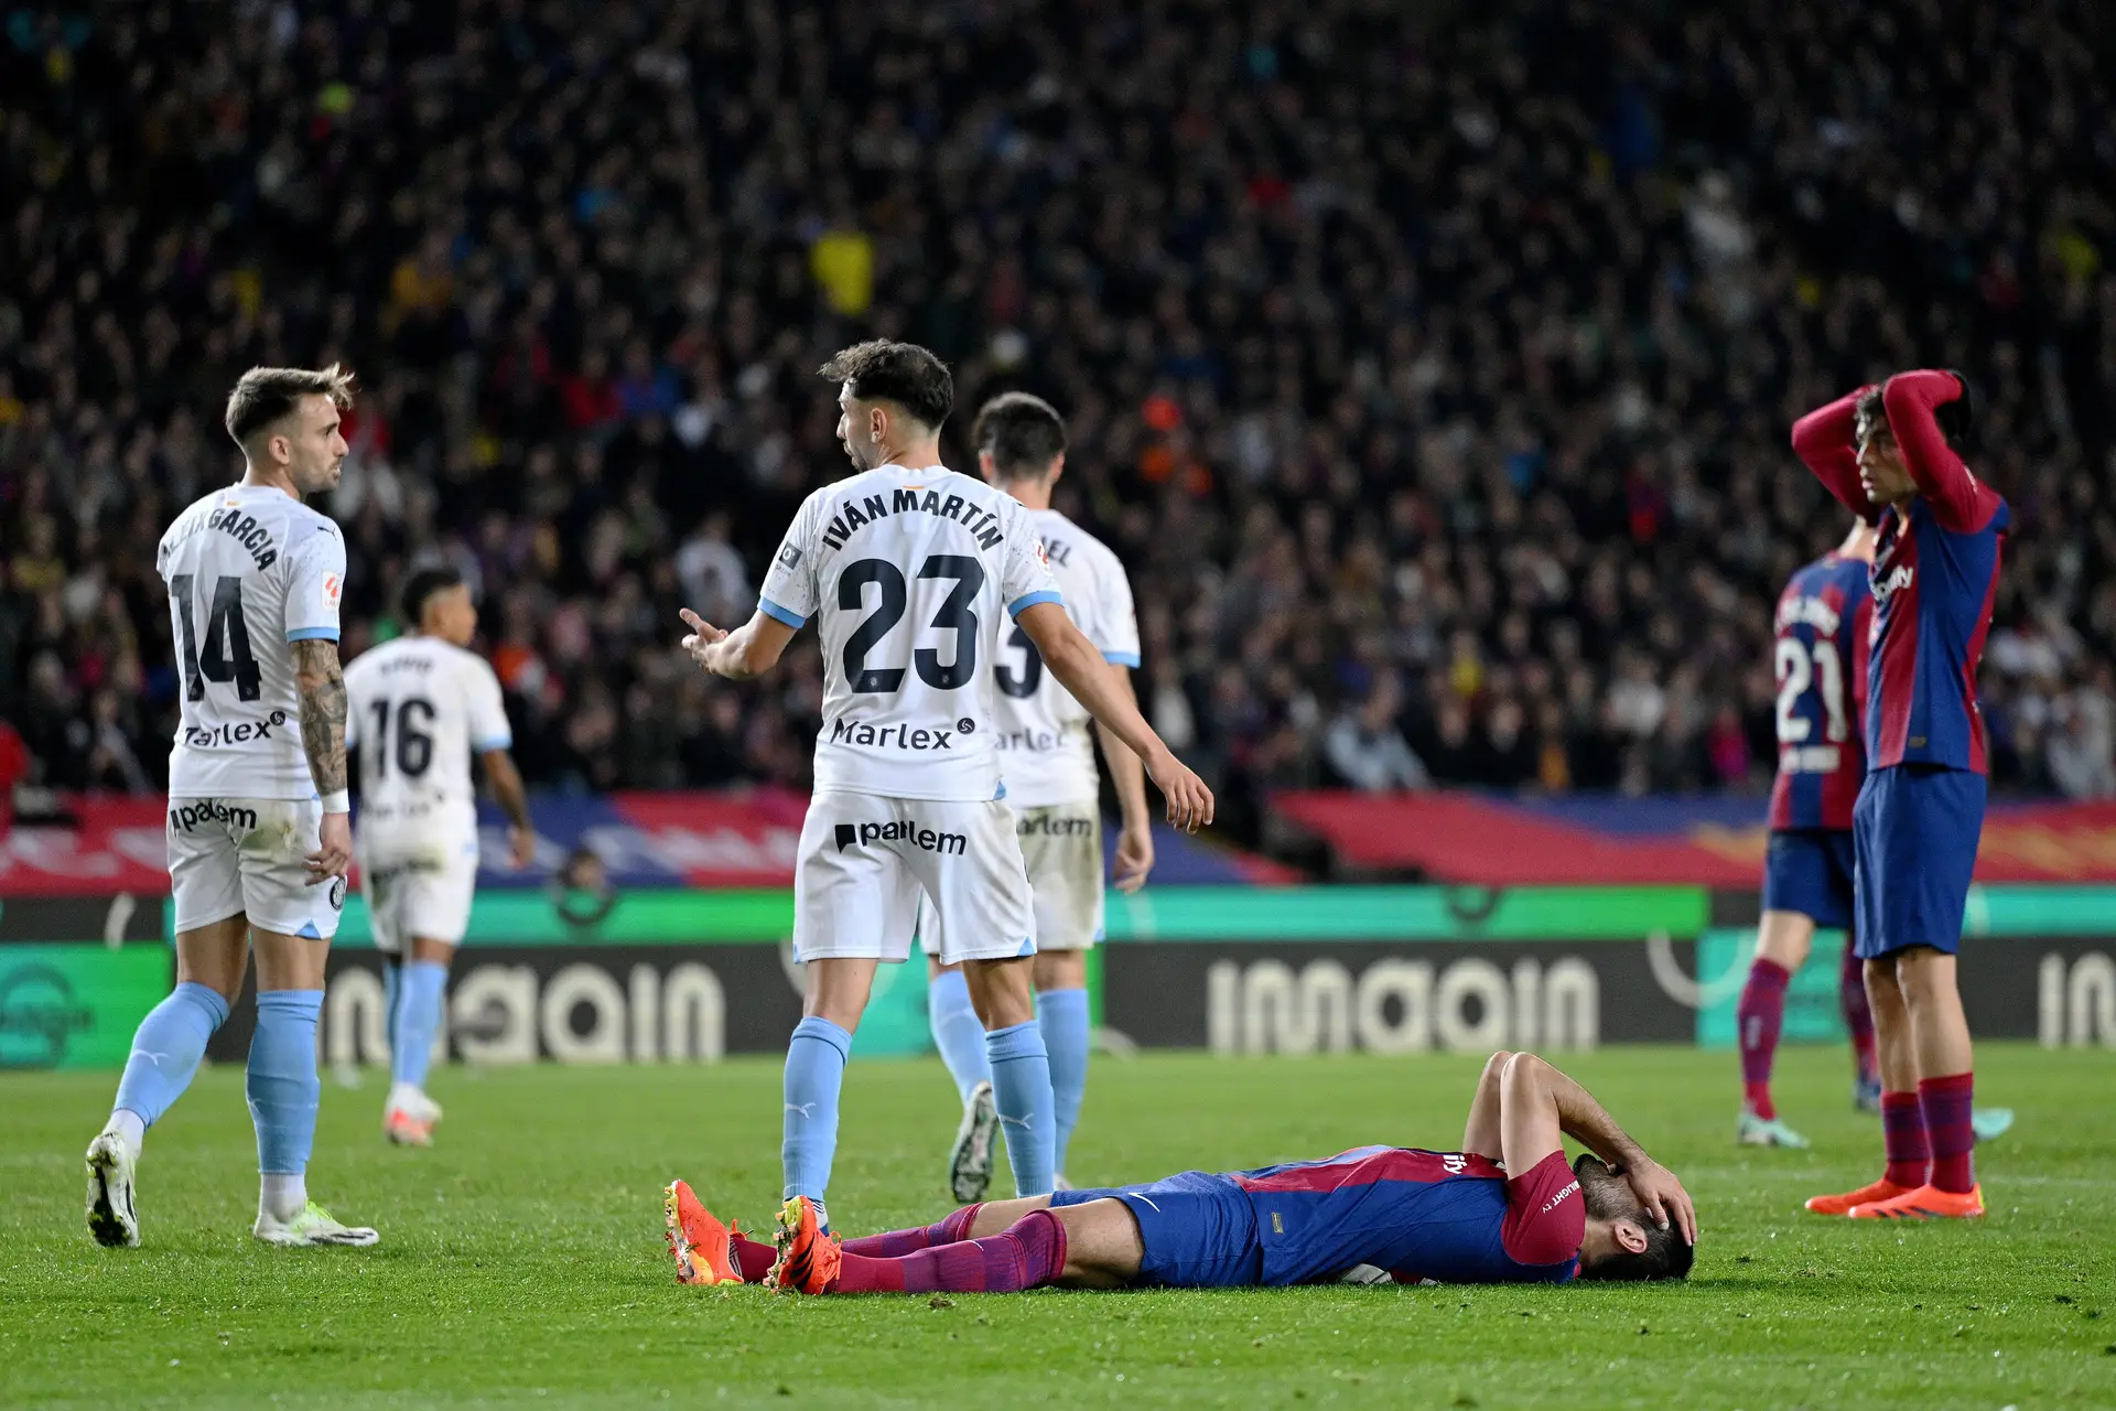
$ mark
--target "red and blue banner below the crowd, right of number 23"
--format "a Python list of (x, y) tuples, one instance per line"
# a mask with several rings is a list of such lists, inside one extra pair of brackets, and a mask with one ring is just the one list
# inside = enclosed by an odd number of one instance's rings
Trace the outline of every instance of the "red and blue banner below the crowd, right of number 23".
[[(1763, 798), (1507, 798), (1293, 789), (1278, 817), (1354, 872), (1479, 886), (1756, 888)], [(2116, 804), (1993, 802), (1978, 882), (2116, 882)]]

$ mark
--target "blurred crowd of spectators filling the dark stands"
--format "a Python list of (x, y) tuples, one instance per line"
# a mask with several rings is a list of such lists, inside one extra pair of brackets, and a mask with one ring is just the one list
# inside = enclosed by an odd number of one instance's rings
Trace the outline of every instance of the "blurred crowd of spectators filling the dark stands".
[[(741, 620), (904, 336), (1071, 419), (1151, 719), (1265, 789), (1758, 791), (1790, 421), (1957, 366), (2017, 533), (1993, 785), (2116, 793), (2116, 104), (2084, 0), (271, 0), (0, 34), (0, 776), (152, 789), (154, 542), (347, 360), (347, 656), (472, 580), (557, 789), (800, 785)], [(2099, 25), (2099, 30), (2097, 30)], [(8, 734), (0, 728), (0, 736)], [(11, 764), (13, 759), (13, 764)]]

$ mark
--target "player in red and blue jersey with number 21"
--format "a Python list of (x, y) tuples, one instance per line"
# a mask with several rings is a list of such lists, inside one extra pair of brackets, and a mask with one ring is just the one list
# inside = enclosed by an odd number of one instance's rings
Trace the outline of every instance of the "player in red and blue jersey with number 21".
[[(1777, 781), (1763, 865), (1756, 958), (1735, 1009), (1741, 1047), (1744, 1147), (1807, 1147), (1777, 1119), (1771, 1066), (1786, 1022), (1786, 986), (1807, 963), (1816, 929), (1852, 927), (1852, 806), (1866, 783), (1860, 717), (1866, 709), (1866, 643), (1873, 628), (1873, 527), (1858, 520), (1845, 542), (1792, 575), (1777, 599)], [(1837, 996), (1858, 1060), (1852, 1100), (1879, 1106), (1873, 1013), (1864, 963), (1845, 946)]]

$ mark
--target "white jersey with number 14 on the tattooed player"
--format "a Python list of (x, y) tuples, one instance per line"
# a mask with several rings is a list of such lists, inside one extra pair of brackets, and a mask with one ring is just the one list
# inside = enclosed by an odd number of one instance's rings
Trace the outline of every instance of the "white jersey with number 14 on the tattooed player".
[(174, 798), (309, 800), (290, 643), (339, 639), (345, 539), (286, 491), (231, 484), (161, 535), (182, 721)]

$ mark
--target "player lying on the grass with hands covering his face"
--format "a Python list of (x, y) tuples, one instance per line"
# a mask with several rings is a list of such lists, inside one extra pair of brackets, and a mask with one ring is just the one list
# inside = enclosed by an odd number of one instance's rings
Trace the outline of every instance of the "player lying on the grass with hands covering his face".
[[(1566, 1166), (1564, 1136), (1591, 1155)], [(1183, 1172), (842, 1242), (796, 1195), (777, 1248), (722, 1225), (681, 1180), (667, 1216), (679, 1282), (798, 1293), (1648, 1280), (1684, 1278), (1697, 1242), (1682, 1183), (1534, 1053), (1483, 1066), (1462, 1151)]]

